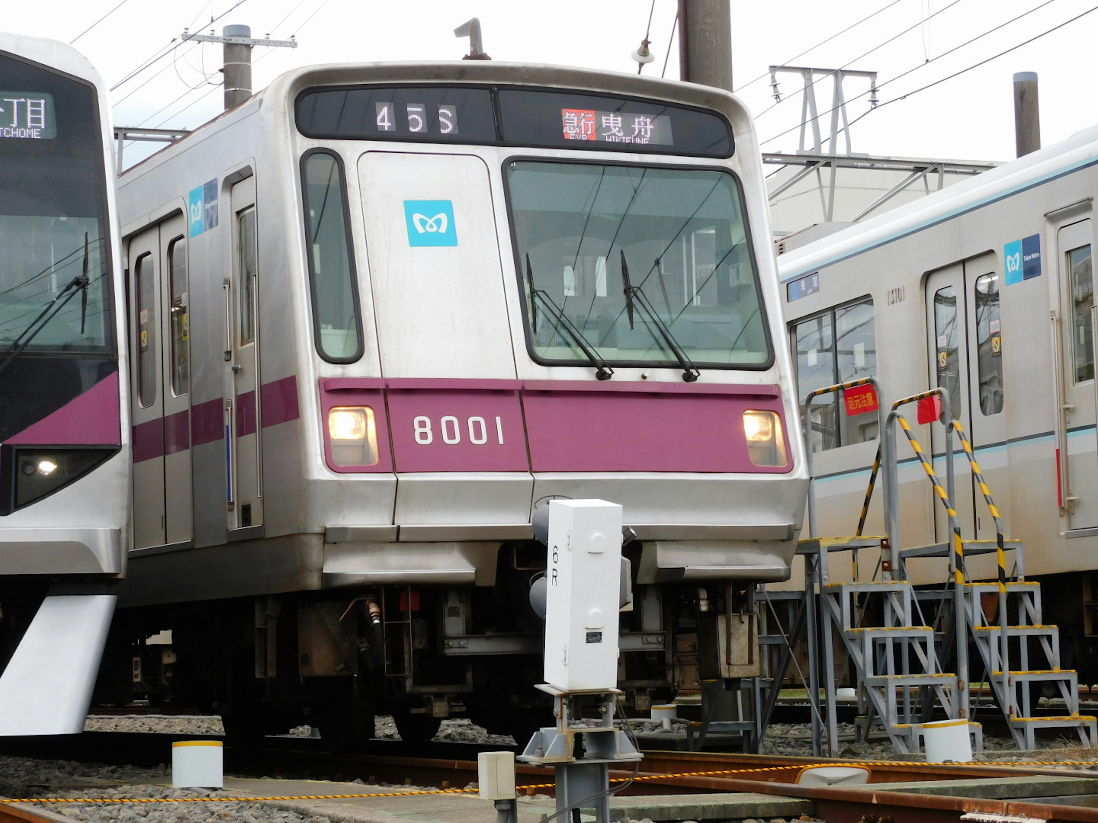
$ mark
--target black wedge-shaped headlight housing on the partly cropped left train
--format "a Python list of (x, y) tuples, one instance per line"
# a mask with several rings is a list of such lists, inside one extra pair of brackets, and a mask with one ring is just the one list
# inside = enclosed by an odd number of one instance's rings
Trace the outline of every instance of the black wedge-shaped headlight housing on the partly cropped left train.
[(117, 453), (115, 447), (0, 448), (0, 515), (42, 499)]

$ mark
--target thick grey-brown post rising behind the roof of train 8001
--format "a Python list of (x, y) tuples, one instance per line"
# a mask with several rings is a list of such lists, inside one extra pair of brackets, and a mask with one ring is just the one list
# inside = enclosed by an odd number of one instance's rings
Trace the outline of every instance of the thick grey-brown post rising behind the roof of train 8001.
[(687, 82), (732, 90), (729, 0), (679, 0), (679, 67)]

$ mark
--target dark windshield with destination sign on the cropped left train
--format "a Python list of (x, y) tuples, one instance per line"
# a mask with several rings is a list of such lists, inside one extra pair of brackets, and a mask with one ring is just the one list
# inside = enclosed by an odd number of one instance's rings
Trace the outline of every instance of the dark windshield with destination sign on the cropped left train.
[(0, 363), (105, 352), (110, 224), (94, 88), (0, 54)]

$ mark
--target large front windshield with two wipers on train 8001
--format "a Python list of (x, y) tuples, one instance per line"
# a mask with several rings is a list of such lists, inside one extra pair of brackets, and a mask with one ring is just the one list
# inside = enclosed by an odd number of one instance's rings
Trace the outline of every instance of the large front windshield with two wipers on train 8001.
[[(507, 190), (535, 359), (771, 362), (737, 179), (709, 169), (516, 160)], [(670, 338), (670, 339), (669, 339)]]

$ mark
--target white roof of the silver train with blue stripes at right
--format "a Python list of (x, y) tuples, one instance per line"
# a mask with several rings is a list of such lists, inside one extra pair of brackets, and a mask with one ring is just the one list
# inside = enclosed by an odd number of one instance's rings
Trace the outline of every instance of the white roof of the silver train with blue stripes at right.
[(1098, 125), (777, 258), (782, 282), (1098, 164)]

